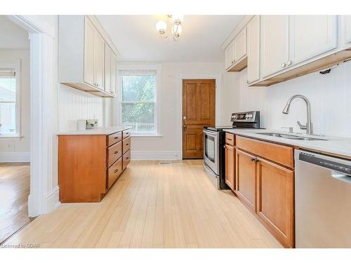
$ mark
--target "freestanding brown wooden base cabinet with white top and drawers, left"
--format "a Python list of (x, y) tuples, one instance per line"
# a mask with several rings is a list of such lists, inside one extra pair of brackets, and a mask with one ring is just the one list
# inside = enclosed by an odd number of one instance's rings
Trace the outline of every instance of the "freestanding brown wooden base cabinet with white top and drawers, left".
[(131, 160), (130, 135), (126, 127), (59, 133), (60, 202), (100, 202)]

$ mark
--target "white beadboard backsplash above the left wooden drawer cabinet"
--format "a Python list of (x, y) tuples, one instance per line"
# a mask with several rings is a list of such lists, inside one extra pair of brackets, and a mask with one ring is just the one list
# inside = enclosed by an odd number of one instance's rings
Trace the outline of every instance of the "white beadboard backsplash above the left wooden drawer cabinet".
[(98, 119), (103, 126), (102, 97), (60, 85), (58, 91), (58, 130), (77, 130), (77, 120)]

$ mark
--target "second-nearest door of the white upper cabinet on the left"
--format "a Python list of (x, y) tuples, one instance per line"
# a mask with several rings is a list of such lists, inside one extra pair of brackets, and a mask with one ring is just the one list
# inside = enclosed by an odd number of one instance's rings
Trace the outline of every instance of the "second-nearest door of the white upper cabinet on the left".
[(104, 54), (105, 41), (98, 31), (94, 35), (94, 76), (96, 86), (104, 89)]

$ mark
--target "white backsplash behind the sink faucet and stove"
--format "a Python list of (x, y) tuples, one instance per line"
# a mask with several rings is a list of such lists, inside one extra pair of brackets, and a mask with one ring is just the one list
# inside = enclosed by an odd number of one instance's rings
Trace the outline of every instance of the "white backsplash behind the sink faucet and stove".
[(270, 87), (248, 87), (246, 69), (239, 72), (237, 90), (239, 111), (260, 110), (262, 126), (274, 130), (293, 126), (304, 133), (296, 121), (306, 122), (305, 102), (293, 100), (288, 115), (282, 114), (292, 95), (305, 95), (311, 102), (314, 133), (351, 137), (351, 62), (331, 69), (330, 74), (314, 72)]

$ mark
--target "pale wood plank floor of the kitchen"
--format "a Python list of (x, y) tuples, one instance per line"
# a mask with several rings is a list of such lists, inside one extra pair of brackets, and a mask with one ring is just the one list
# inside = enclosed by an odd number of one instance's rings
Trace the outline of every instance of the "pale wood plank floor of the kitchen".
[(65, 203), (6, 245), (40, 248), (281, 248), (201, 160), (132, 161), (101, 203)]

